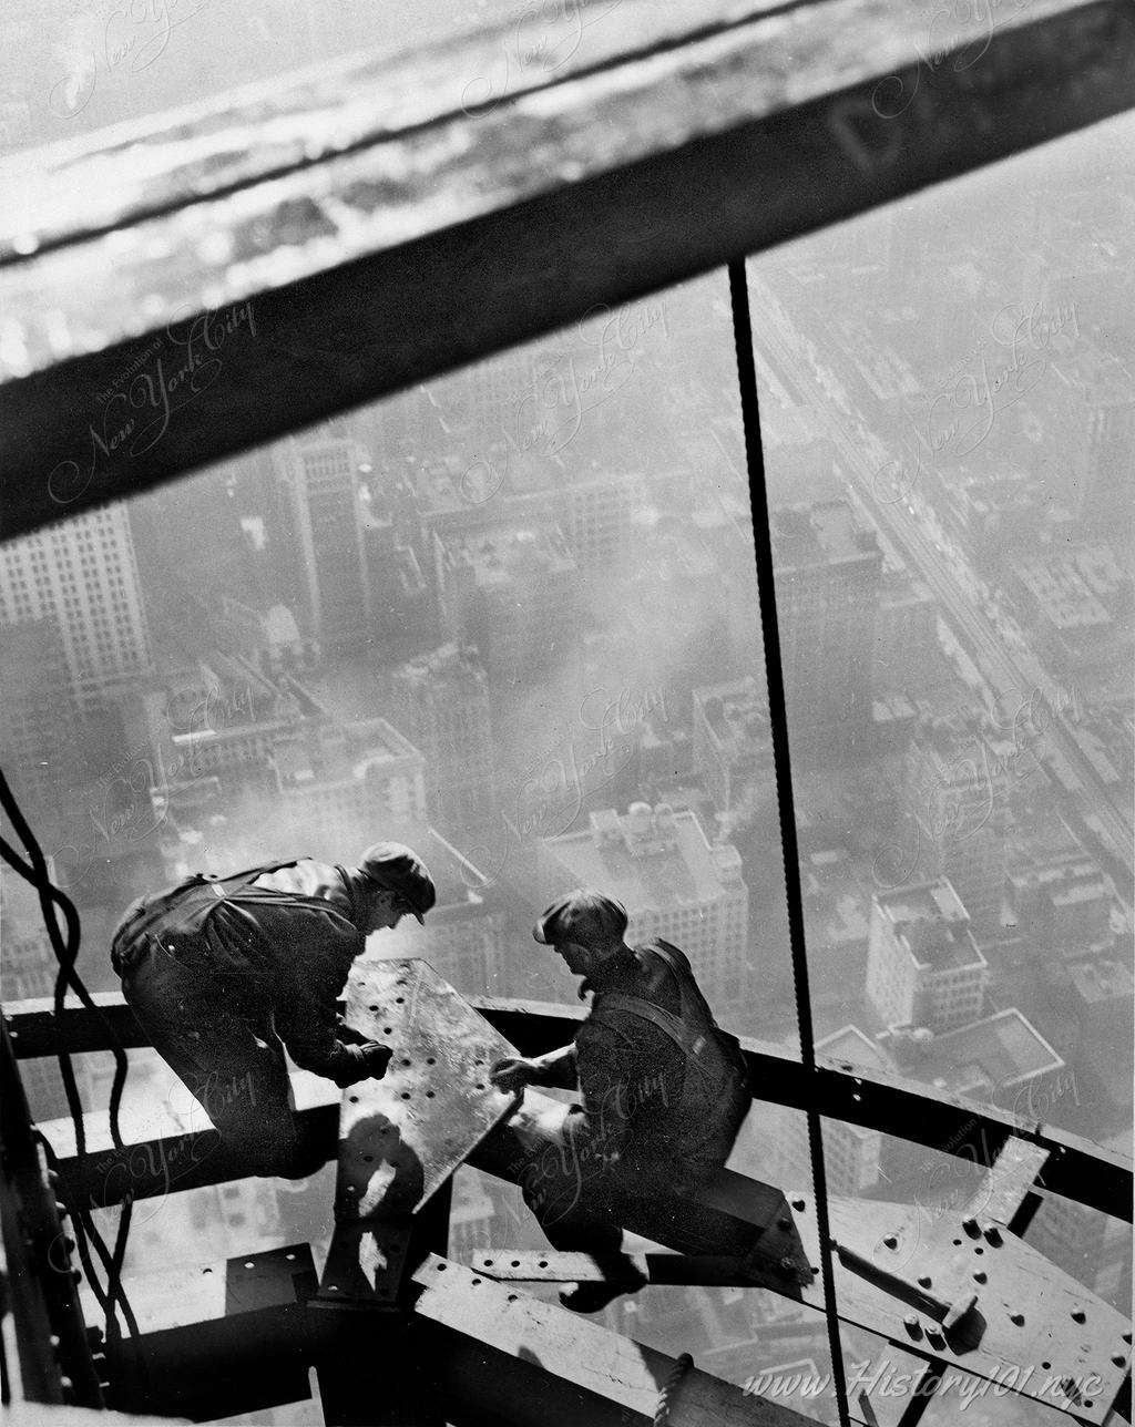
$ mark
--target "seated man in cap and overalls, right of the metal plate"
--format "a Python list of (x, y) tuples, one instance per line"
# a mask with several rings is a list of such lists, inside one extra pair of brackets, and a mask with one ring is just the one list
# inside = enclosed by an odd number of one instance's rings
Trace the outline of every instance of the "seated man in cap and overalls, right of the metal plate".
[(553, 902), (533, 936), (584, 977), (591, 1013), (571, 1045), (491, 1072), (505, 1093), (581, 1092), (565, 1116), (521, 1106), (508, 1129), (525, 1149), (524, 1199), (550, 1243), (602, 1270), (602, 1281), (560, 1294), (582, 1313), (642, 1287), (621, 1251), (620, 1206), (697, 1190), (724, 1166), (751, 1103), (741, 1047), (715, 1025), (684, 953), (662, 940), (627, 946), (625, 930), (627, 912), (601, 892)]

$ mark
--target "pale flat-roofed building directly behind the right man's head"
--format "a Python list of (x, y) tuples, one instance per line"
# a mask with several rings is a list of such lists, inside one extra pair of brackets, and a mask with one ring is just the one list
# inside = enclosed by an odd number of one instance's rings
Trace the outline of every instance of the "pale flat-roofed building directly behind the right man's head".
[(631, 803), (592, 812), (590, 826), (540, 843), (541, 896), (577, 886), (617, 898), (630, 942), (661, 936), (690, 958), (718, 1019), (748, 999), (748, 888), (732, 846), (711, 846), (692, 812)]

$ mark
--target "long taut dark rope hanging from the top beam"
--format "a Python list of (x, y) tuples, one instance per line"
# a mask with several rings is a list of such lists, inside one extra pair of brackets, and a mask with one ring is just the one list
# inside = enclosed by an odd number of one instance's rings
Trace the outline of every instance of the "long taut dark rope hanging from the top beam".
[[(799, 849), (797, 846), (797, 818), (792, 801), (792, 766), (788, 751), (788, 712), (784, 696), (784, 671), (780, 661), (780, 629), (777, 622), (777, 591), (772, 574), (772, 538), (768, 528), (768, 492), (765, 489), (764, 458), (761, 454), (761, 424), (757, 404), (757, 367), (752, 357), (752, 324), (748, 308), (745, 260), (730, 264), (730, 301), (732, 305), (732, 335), (737, 348), (737, 372), (741, 387), (741, 424), (745, 437), (745, 464), (752, 497), (752, 534), (757, 549), (757, 591), (761, 605), (761, 629), (765, 645), (765, 675), (768, 682), (768, 718), (772, 728), (772, 766), (777, 783), (777, 809), (781, 822), (781, 852), (784, 856), (784, 892), (788, 903), (788, 942), (792, 953), (792, 985), (799, 1029), (799, 1055), (807, 1075), (815, 1075), (815, 1032), (812, 1002), (808, 987), (808, 959), (804, 946), (804, 898), (799, 886)], [(819, 1266), (824, 1281), (824, 1316), (828, 1323), (828, 1351), (831, 1354), (832, 1384), (839, 1407), (841, 1427), (849, 1427), (847, 1378), (835, 1316), (835, 1283), (831, 1269), (831, 1224), (828, 1220), (828, 1179), (824, 1164), (824, 1140), (819, 1114), (809, 1106), (808, 1149), (812, 1159), (812, 1187), (815, 1217), (819, 1233)]]

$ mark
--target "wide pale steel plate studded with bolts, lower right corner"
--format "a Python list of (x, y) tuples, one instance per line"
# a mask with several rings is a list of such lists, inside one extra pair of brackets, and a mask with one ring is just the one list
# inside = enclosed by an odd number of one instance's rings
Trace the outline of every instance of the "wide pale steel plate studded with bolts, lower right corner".
[[(965, 1212), (835, 1196), (828, 1212), (842, 1321), (1078, 1421), (1109, 1418), (1131, 1370), (1129, 1320), (1008, 1229), (974, 1234)], [(799, 1227), (818, 1266), (815, 1223), (801, 1214)], [(801, 1297), (824, 1309), (818, 1276)]]

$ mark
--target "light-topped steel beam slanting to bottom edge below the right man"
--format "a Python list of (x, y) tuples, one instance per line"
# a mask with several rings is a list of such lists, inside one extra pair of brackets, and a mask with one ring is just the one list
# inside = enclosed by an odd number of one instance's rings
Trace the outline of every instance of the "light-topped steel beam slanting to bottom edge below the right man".
[[(674, 1359), (437, 1256), (414, 1277), (423, 1289), (415, 1319), (445, 1330), (435, 1363), (454, 1421), (463, 1421), (461, 1396), (474, 1393), (478, 1421), (510, 1427), (654, 1421)], [(697, 1367), (674, 1390), (668, 1423), (812, 1427), (812, 1418)]]

